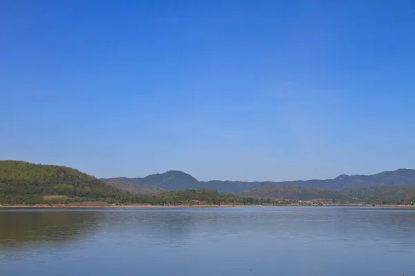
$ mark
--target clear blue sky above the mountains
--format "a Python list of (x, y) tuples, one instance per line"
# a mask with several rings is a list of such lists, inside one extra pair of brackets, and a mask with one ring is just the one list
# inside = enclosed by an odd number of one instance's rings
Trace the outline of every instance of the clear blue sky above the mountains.
[(3, 0), (0, 120), (96, 177), (415, 168), (415, 2)]

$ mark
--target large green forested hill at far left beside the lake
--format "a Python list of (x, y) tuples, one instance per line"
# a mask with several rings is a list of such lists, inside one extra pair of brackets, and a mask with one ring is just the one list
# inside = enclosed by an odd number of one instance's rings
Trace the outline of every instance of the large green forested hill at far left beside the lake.
[(45, 201), (133, 201), (134, 195), (64, 166), (0, 161), (0, 203)]

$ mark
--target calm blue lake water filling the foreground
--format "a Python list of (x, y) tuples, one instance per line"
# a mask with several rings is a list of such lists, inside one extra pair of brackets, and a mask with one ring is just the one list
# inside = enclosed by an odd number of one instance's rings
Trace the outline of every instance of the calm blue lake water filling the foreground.
[(415, 210), (0, 210), (0, 275), (415, 275)]

